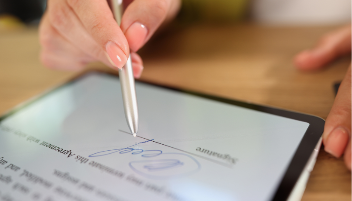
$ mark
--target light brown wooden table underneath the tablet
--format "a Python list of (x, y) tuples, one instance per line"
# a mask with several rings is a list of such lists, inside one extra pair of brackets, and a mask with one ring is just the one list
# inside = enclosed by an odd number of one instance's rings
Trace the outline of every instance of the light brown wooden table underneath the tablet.
[[(305, 73), (294, 55), (334, 27), (255, 25), (175, 27), (140, 51), (141, 80), (271, 105), (326, 118), (350, 57)], [(0, 33), (0, 113), (62, 83), (74, 72), (44, 68), (37, 29)], [(100, 63), (89, 68), (109, 70)], [(322, 149), (302, 200), (351, 200), (351, 173)]]

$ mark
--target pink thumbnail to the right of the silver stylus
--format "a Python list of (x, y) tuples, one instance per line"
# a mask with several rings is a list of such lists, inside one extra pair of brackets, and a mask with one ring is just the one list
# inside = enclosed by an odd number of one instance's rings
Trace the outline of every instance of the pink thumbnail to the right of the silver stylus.
[(125, 36), (130, 49), (137, 52), (147, 37), (148, 29), (139, 22), (133, 23), (126, 31)]

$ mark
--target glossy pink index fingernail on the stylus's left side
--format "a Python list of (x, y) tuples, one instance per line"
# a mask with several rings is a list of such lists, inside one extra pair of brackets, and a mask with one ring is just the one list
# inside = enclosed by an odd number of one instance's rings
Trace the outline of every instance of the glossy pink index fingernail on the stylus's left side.
[(115, 64), (117, 68), (121, 69), (127, 61), (125, 53), (114, 42), (108, 42), (105, 48), (112, 63)]

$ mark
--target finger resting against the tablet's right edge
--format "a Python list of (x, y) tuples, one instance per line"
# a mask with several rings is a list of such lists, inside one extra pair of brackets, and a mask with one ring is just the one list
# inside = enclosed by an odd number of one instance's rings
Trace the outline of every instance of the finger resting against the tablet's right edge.
[[(325, 151), (335, 157), (340, 157), (344, 152), (345, 157), (351, 161), (351, 65), (341, 82), (332, 109), (326, 118), (323, 143)], [(348, 144), (348, 149), (345, 148)], [(345, 158), (346, 160), (346, 158)], [(350, 167), (350, 164), (349, 164)]]

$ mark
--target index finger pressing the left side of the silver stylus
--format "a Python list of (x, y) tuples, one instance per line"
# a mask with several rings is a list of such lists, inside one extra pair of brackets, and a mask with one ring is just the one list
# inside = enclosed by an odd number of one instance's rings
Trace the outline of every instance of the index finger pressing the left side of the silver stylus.
[(83, 27), (98, 46), (106, 50), (118, 68), (122, 68), (129, 55), (127, 40), (115, 21), (107, 1), (66, 0)]

